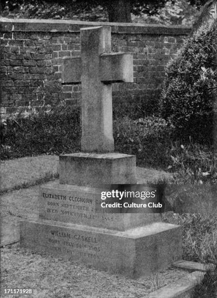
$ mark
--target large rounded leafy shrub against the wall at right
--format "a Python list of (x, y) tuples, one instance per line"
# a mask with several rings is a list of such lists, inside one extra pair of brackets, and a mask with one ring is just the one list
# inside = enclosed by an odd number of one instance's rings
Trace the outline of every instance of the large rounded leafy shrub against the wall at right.
[(217, 100), (217, 24), (203, 26), (189, 37), (167, 66), (162, 117), (184, 139), (209, 142)]

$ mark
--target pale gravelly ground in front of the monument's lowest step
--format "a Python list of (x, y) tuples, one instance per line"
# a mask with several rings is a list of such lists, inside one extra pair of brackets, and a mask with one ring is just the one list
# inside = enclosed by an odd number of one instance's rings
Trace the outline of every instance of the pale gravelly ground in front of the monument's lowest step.
[(169, 268), (147, 278), (127, 279), (73, 261), (32, 254), (20, 248), (19, 243), (1, 248), (1, 291), (33, 289), (33, 296), (29, 296), (33, 298), (145, 298), (185, 274), (183, 270)]

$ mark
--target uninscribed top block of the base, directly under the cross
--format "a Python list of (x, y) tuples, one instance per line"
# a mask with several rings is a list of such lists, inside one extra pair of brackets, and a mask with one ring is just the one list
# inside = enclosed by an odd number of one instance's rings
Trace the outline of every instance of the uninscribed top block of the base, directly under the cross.
[(121, 153), (60, 155), (60, 184), (95, 186), (136, 183), (135, 156)]

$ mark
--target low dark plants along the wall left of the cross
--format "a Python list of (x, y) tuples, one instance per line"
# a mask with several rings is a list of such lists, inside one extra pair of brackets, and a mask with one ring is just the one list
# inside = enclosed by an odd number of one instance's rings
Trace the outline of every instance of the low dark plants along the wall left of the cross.
[(57, 106), (27, 118), (7, 120), (1, 134), (1, 158), (80, 149), (80, 109)]

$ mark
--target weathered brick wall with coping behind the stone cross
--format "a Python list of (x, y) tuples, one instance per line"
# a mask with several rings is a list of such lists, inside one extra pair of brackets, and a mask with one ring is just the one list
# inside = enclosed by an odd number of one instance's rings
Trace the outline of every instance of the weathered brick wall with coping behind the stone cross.
[(80, 28), (112, 27), (112, 50), (134, 54), (134, 83), (113, 84), (114, 110), (153, 112), (167, 61), (190, 28), (68, 20), (1, 19), (1, 115), (65, 102), (79, 105), (81, 85), (62, 85), (62, 58), (80, 54)]

